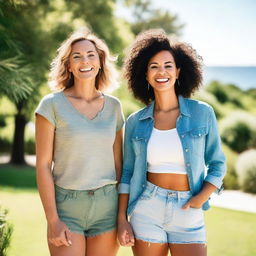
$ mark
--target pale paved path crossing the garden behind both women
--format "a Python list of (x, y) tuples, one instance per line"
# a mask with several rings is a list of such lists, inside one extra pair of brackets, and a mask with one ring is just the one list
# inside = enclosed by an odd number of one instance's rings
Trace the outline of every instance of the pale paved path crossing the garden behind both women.
[[(9, 156), (0, 156), (0, 164), (8, 163), (9, 159)], [(27, 155), (25, 159), (28, 164), (35, 166), (35, 156)], [(256, 213), (256, 195), (238, 190), (224, 190), (221, 195), (213, 194), (210, 204), (232, 210)]]

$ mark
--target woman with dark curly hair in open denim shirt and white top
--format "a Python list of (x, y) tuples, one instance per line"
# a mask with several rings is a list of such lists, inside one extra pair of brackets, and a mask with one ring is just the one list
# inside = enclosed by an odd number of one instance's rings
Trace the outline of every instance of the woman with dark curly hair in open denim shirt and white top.
[(148, 30), (124, 68), (146, 107), (125, 128), (120, 244), (139, 256), (205, 256), (203, 210), (222, 190), (225, 157), (212, 107), (189, 99), (202, 82), (201, 58), (163, 30)]

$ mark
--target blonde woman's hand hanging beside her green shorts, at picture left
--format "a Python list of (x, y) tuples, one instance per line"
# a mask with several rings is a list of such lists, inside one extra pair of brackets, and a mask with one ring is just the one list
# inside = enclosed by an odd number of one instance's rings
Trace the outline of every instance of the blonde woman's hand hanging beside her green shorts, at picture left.
[(71, 232), (67, 225), (60, 219), (53, 222), (48, 222), (48, 240), (51, 244), (59, 247), (62, 245), (70, 246)]

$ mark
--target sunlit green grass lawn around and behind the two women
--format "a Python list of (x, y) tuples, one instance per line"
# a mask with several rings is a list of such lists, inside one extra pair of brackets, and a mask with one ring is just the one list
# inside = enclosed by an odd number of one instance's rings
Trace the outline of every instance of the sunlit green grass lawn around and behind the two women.
[[(0, 165), (0, 205), (14, 224), (8, 256), (46, 256), (46, 221), (32, 167)], [(209, 256), (256, 255), (256, 214), (213, 207), (205, 214)], [(132, 255), (121, 248), (118, 256)]]

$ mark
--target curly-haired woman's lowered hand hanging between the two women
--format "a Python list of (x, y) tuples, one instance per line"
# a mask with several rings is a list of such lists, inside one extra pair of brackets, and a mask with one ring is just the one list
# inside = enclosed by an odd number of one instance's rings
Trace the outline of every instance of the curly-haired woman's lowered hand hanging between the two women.
[(118, 221), (118, 240), (122, 246), (134, 246), (134, 235), (127, 220)]

